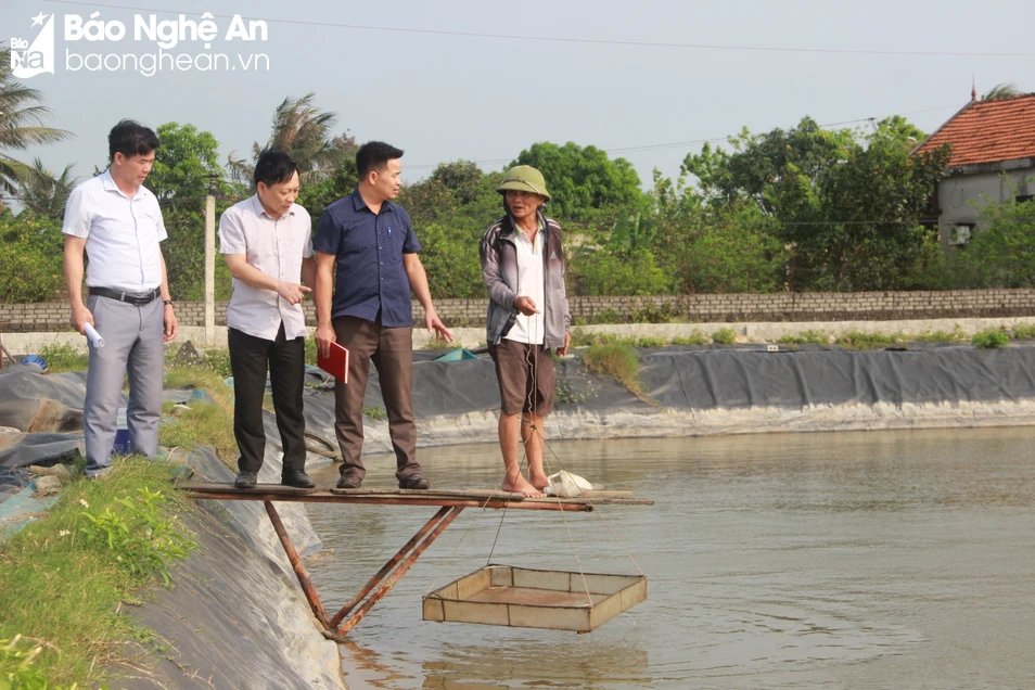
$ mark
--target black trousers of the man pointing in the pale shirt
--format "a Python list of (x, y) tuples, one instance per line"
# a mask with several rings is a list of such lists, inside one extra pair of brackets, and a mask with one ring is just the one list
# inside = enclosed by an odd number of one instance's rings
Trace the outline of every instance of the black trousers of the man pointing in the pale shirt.
[(283, 475), (305, 470), (306, 420), (302, 392), (305, 387), (305, 338), (284, 337), (281, 323), (276, 341), (228, 329), (230, 369), (233, 372), (233, 435), (238, 440), (238, 468), (258, 472), (266, 456), (266, 427), (263, 424), (263, 397), (266, 372), (273, 388), (273, 411), (284, 447)]

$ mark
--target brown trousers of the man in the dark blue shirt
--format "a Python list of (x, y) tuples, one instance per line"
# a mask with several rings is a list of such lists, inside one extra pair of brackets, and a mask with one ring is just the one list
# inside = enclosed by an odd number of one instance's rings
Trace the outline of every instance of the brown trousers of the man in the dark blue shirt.
[(334, 432), (342, 448), (342, 475), (367, 474), (363, 450), (363, 398), (370, 362), (378, 368), (381, 397), (388, 414), (388, 435), (395, 449), (396, 473), (403, 480), (420, 472), (417, 462), (417, 423), (413, 421), (413, 329), (386, 328), (380, 321), (355, 317), (334, 319), (334, 334), (348, 350), (348, 384), (334, 385)]

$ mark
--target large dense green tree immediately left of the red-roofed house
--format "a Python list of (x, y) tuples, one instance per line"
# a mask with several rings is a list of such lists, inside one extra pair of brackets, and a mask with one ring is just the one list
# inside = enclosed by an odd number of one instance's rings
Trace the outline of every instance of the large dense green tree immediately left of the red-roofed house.
[(869, 135), (805, 117), (785, 131), (744, 130), (731, 152), (705, 146), (683, 170), (705, 205), (748, 202), (774, 221), (765, 232), (790, 252), (789, 289), (916, 288), (934, 241), (920, 220), (947, 164), (947, 150), (910, 156), (922, 136), (903, 117)]

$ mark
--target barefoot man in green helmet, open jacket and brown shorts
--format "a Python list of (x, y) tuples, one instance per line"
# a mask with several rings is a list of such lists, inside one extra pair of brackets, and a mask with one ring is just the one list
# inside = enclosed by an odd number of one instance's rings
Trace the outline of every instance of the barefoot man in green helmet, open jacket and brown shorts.
[[(496, 191), (507, 214), (482, 238), (482, 278), (489, 293), (486, 342), (499, 381), (502, 488), (544, 496), (542, 418), (553, 409), (553, 358), (567, 353), (572, 316), (564, 288), (561, 227), (542, 215), (550, 201), (542, 174), (519, 165)], [(528, 478), (521, 474), (525, 445)]]

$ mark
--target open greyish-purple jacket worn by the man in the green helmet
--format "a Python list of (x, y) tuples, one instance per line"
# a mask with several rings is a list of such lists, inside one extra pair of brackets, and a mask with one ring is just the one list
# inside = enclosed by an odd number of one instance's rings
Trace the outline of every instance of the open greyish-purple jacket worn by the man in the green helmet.
[[(564, 346), (564, 333), (572, 323), (564, 289), (564, 253), (561, 250), (561, 226), (539, 214), (539, 226), (546, 227), (542, 252), (544, 345), (548, 349)], [(514, 221), (510, 214), (489, 227), (482, 235), (478, 255), (482, 259), (482, 279), (489, 293), (486, 319), (486, 342), (496, 345), (510, 331), (518, 318), (514, 299), (518, 297), (518, 245), (514, 243)]]

